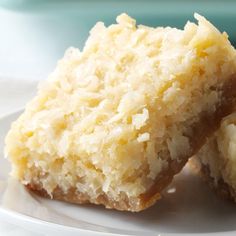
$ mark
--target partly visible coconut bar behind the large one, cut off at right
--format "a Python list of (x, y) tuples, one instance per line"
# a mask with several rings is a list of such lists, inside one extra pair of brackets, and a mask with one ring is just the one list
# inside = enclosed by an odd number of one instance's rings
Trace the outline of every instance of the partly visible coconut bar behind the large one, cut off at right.
[(195, 165), (209, 185), (236, 202), (236, 113), (222, 121), (195, 158)]

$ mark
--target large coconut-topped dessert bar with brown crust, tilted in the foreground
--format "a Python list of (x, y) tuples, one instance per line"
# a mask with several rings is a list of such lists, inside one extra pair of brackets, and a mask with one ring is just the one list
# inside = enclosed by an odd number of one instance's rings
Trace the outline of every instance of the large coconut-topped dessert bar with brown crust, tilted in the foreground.
[(28, 189), (141, 211), (232, 112), (236, 51), (204, 17), (184, 30), (99, 22), (12, 124), (6, 155)]

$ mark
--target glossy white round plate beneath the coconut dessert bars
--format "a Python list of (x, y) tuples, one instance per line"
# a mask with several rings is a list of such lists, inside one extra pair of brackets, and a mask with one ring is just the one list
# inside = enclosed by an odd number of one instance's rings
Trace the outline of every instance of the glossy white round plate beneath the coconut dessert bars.
[[(0, 148), (19, 112), (0, 119)], [(52, 235), (236, 235), (236, 205), (223, 201), (185, 168), (155, 206), (140, 213), (40, 198), (9, 178), (0, 158), (0, 218)], [(175, 190), (175, 191), (174, 191)]]

